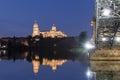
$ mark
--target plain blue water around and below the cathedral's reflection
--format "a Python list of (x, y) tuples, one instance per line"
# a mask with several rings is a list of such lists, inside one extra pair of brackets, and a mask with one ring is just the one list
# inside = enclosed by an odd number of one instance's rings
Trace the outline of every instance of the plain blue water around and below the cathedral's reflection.
[(77, 61), (67, 61), (54, 71), (50, 66), (39, 66), (34, 73), (33, 64), (24, 60), (3, 60), (0, 62), (0, 80), (88, 80), (88, 66)]

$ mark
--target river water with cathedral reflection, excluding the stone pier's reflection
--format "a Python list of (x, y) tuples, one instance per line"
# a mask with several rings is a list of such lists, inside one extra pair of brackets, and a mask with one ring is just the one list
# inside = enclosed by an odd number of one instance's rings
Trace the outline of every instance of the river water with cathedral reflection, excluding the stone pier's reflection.
[(93, 80), (86, 75), (88, 61), (67, 56), (1, 51), (0, 80)]

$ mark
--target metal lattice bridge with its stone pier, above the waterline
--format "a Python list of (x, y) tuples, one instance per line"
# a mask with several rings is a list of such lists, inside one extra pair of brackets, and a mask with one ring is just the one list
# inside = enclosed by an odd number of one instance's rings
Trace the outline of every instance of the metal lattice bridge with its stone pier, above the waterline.
[(120, 0), (95, 0), (93, 41), (90, 59), (120, 60)]

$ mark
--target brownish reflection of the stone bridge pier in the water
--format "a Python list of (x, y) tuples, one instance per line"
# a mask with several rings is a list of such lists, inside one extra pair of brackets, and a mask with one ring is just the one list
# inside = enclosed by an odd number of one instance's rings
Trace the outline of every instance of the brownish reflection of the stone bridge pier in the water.
[(90, 61), (94, 80), (120, 80), (120, 61)]

